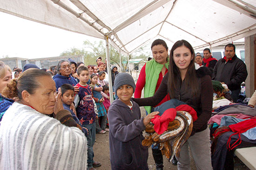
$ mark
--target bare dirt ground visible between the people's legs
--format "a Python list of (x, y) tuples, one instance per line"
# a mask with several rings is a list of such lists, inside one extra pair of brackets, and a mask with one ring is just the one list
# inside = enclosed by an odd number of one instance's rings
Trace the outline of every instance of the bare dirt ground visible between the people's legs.
[[(145, 116), (145, 109), (141, 107), (141, 116)], [(191, 154), (190, 154), (191, 155)], [(191, 170), (196, 170), (193, 157), (190, 156)], [(97, 170), (111, 170), (109, 159), (109, 142), (108, 132), (105, 134), (96, 134), (96, 142), (94, 144), (94, 161), (101, 162), (101, 167), (95, 168)], [(177, 170), (177, 166), (168, 162), (168, 159), (164, 157), (164, 170)], [(152, 156), (152, 150), (148, 149), (148, 168), (149, 170), (155, 170), (155, 162)], [(237, 157), (235, 157), (235, 170), (249, 170)]]

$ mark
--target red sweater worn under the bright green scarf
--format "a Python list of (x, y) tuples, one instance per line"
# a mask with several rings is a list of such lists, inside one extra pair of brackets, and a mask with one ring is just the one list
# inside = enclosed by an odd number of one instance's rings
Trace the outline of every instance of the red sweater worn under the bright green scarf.
[[(146, 63), (147, 64), (147, 63)], [(146, 84), (146, 71), (145, 71), (145, 68), (146, 68), (146, 64), (143, 65), (143, 67), (141, 68), (141, 72), (140, 72), (140, 75), (139, 75), (139, 78), (137, 80), (137, 83), (136, 83), (136, 88), (135, 88), (135, 92), (134, 92), (134, 97), (135, 98), (141, 98), (141, 92), (142, 92), (142, 89), (144, 88), (145, 84)], [(164, 75), (168, 72), (168, 69), (166, 68), (165, 69), (165, 73)], [(157, 89), (159, 88), (161, 82), (162, 82), (162, 72), (160, 72), (159, 74), (159, 78), (157, 80), (157, 83), (156, 83), (156, 86), (155, 86), (155, 92), (157, 91)], [(170, 97), (169, 97), (169, 94), (167, 94), (163, 99), (162, 101), (155, 105), (154, 107), (156, 106), (159, 106), (161, 105), (162, 103), (166, 102), (170, 100)]]

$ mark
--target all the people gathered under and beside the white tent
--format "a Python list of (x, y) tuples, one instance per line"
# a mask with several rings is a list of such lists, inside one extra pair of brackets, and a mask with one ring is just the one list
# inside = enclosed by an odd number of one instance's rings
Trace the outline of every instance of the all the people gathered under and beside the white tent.
[[(12, 71), (0, 62), (0, 169), (95, 170), (101, 166), (94, 161), (95, 134), (108, 132), (112, 170), (148, 170), (142, 131), (159, 114), (154, 108), (171, 99), (191, 106), (197, 117), (172, 163), (178, 170), (189, 170), (190, 148), (197, 170), (215, 169), (208, 127), (216, 93), (212, 80), (227, 85), (236, 103), (248, 73), (235, 49), (226, 45), (225, 57), (217, 61), (209, 48), (202, 57), (188, 41), (179, 40), (168, 52), (166, 42), (156, 39), (151, 45), (153, 59), (142, 67), (136, 85), (115, 65), (108, 73), (101, 57), (88, 66), (61, 60), (48, 70), (26, 64)], [(116, 96), (112, 104), (110, 95)], [(249, 107), (256, 105), (255, 96), (256, 92)], [(145, 106), (145, 117), (139, 106)], [(156, 170), (163, 170), (159, 145), (152, 145), (152, 154)]]

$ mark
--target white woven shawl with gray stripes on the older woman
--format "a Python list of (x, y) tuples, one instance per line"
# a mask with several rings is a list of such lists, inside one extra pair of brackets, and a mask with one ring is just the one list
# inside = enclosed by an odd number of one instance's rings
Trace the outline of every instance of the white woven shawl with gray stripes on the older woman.
[(0, 170), (86, 170), (87, 139), (27, 105), (15, 102), (0, 124)]

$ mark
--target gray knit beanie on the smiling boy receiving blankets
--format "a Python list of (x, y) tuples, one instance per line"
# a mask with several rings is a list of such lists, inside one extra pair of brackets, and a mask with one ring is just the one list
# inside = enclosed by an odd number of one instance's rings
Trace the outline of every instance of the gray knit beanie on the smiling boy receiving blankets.
[(115, 76), (115, 82), (114, 82), (114, 90), (115, 90), (115, 94), (117, 89), (122, 86), (122, 85), (130, 85), (133, 87), (133, 92), (135, 91), (135, 82), (133, 77), (128, 74), (128, 73), (124, 73), (124, 72), (120, 72), (119, 74), (117, 74)]

